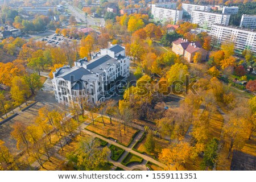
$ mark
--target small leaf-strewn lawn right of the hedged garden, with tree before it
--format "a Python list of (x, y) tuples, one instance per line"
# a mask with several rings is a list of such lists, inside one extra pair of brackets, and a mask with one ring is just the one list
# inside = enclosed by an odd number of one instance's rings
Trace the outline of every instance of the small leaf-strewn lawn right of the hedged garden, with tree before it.
[(144, 146), (144, 143), (146, 142), (146, 137), (143, 138), (141, 143), (138, 143), (138, 151), (140, 152), (145, 152), (148, 155), (152, 155), (155, 156), (155, 158), (158, 158), (158, 154), (160, 154), (162, 152), (163, 148), (167, 148), (170, 145), (170, 142), (168, 140), (165, 139), (161, 139), (158, 137), (154, 136), (154, 140), (155, 140), (155, 149), (153, 152), (148, 152), (146, 150), (146, 147)]

